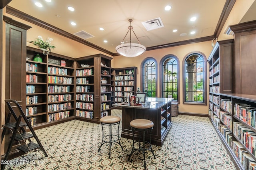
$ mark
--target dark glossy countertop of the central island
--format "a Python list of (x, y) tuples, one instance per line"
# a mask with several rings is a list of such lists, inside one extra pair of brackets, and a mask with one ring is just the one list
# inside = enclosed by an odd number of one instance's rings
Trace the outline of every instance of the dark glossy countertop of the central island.
[(117, 107), (128, 107), (128, 108), (136, 108), (136, 109), (159, 109), (164, 106), (166, 103), (169, 103), (173, 100), (173, 98), (146, 98), (146, 102), (150, 102), (150, 107), (143, 106), (128, 106), (122, 103), (116, 103), (112, 106)]

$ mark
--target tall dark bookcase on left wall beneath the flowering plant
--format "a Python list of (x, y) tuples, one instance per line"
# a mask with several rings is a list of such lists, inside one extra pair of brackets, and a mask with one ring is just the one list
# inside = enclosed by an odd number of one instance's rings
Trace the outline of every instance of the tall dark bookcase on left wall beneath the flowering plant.
[[(42, 63), (33, 61), (39, 54)], [(74, 115), (74, 59), (27, 47), (26, 117), (40, 125)]]

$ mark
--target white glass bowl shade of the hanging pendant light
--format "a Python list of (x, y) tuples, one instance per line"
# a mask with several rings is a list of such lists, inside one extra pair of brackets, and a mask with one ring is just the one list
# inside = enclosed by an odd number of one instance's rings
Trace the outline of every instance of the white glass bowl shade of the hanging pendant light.
[(116, 52), (124, 57), (137, 57), (146, 51), (146, 47), (136, 43), (125, 43), (116, 47)]

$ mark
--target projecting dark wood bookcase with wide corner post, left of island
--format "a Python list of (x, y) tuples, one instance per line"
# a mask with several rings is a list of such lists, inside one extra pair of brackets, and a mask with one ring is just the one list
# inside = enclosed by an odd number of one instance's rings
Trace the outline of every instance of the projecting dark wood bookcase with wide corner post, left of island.
[[(76, 59), (76, 116), (79, 119), (100, 123), (101, 117), (111, 115), (111, 59), (102, 54)], [(85, 64), (89, 66), (83, 68)]]

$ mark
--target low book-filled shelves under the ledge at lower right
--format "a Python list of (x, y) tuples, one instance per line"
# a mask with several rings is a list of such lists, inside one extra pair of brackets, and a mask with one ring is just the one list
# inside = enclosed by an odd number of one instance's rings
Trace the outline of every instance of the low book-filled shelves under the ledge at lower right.
[(256, 165), (256, 96), (220, 94), (220, 101), (223, 116), (216, 128), (238, 167), (249, 170), (250, 165)]

